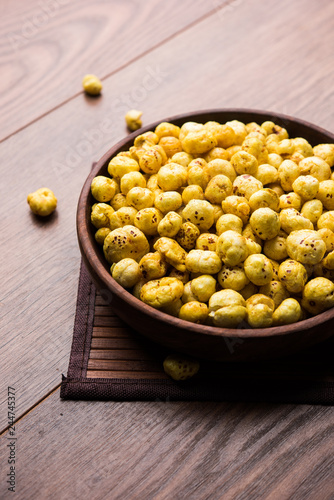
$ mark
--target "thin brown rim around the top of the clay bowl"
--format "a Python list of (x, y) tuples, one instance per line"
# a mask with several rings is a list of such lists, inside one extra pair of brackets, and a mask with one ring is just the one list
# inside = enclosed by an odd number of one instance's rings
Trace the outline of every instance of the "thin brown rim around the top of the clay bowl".
[[(298, 321), (297, 323), (292, 323), (290, 325), (282, 325), (282, 326), (272, 326), (268, 328), (220, 328), (216, 326), (207, 326), (202, 324), (191, 323), (189, 321), (182, 320), (180, 318), (176, 318), (171, 316), (163, 311), (158, 309), (154, 309), (153, 307), (145, 304), (141, 300), (137, 299), (134, 295), (131, 294), (130, 291), (123, 288), (119, 285), (111, 276), (109, 271), (107, 271), (105, 267), (105, 263), (103, 263), (100, 258), (98, 252), (96, 251), (95, 238), (92, 235), (92, 224), (90, 222), (90, 218), (88, 217), (88, 198), (91, 195), (90, 185), (96, 175), (109, 163), (110, 159), (120, 152), (122, 149), (124, 150), (125, 145), (128, 143), (133, 143), (134, 138), (143, 134), (149, 130), (154, 130), (154, 128), (161, 122), (171, 122), (175, 121), (192, 121), (192, 118), (198, 120), (200, 115), (210, 116), (213, 114), (245, 114), (245, 115), (253, 115), (255, 118), (258, 117), (261, 121), (268, 120), (269, 118), (274, 120), (278, 120), (284, 124), (284, 122), (293, 122), (298, 125), (307, 127), (314, 132), (324, 134), (328, 137), (328, 143), (334, 142), (334, 134), (325, 130), (317, 125), (314, 125), (305, 120), (301, 120), (299, 118), (295, 118), (289, 115), (276, 113), (274, 111), (265, 111), (258, 109), (246, 109), (246, 108), (218, 108), (218, 109), (204, 109), (198, 111), (192, 111), (189, 113), (182, 113), (178, 115), (174, 115), (168, 118), (164, 118), (161, 120), (156, 120), (153, 123), (150, 123), (139, 130), (136, 130), (126, 137), (118, 141), (114, 146), (108, 149), (108, 151), (93, 165), (91, 172), (86, 178), (84, 185), (81, 189), (81, 193), (78, 199), (77, 204), (77, 214), (76, 214), (76, 226), (77, 226), (77, 237), (79, 240), (80, 250), (83, 255), (90, 257), (90, 264), (93, 267), (94, 273), (96, 274), (98, 281), (102, 282), (106, 285), (106, 288), (109, 292), (115, 293), (120, 296), (124, 301), (128, 302), (129, 305), (141, 313), (145, 313), (150, 316), (153, 320), (163, 321), (167, 323), (170, 328), (182, 328), (182, 330), (187, 330), (189, 333), (195, 335), (208, 335), (214, 337), (227, 337), (227, 338), (263, 338), (263, 337), (276, 337), (280, 335), (289, 335), (296, 333), (300, 330), (309, 330), (311, 328), (320, 326), (324, 322), (331, 320), (334, 318), (334, 307), (320, 313), (311, 318)], [(90, 212), (89, 212), (90, 213)], [(80, 223), (79, 223), (80, 221)], [(84, 223), (82, 223), (84, 222)]]

